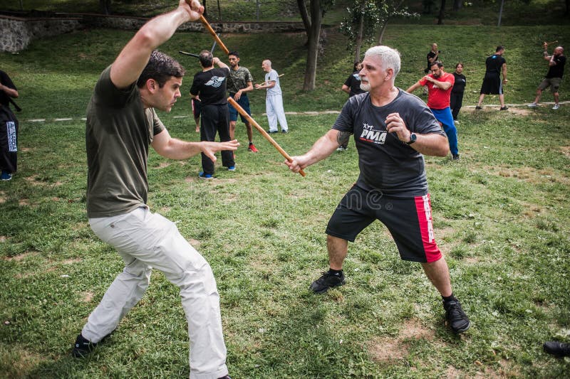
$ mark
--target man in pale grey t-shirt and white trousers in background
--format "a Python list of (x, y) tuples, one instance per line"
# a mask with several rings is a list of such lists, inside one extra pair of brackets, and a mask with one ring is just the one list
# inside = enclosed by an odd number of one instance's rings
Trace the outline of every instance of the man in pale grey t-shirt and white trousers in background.
[(277, 121), (281, 125), (281, 133), (289, 132), (287, 119), (285, 118), (285, 110), (283, 108), (283, 97), (281, 95), (281, 85), (279, 84), (279, 75), (277, 71), (271, 68), (271, 60), (266, 59), (261, 63), (261, 68), (266, 72), (265, 82), (255, 85), (257, 90), (266, 89), (265, 111), (267, 113), (267, 121), (269, 122), (268, 133), (276, 133)]

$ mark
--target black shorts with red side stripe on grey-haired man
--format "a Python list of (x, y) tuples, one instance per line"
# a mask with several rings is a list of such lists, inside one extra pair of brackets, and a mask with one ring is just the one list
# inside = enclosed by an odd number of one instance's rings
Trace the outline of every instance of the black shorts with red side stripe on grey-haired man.
[(328, 220), (326, 234), (354, 242), (358, 233), (374, 220), (386, 225), (403, 260), (435, 262), (442, 257), (433, 236), (429, 193), (398, 198), (355, 185), (338, 203)]

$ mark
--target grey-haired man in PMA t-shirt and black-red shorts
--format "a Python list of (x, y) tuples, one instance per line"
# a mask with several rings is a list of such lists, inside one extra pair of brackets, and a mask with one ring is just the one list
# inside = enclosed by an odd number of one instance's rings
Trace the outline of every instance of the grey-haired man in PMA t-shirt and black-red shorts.
[(398, 51), (387, 46), (368, 49), (360, 72), (361, 87), (368, 93), (350, 97), (332, 129), (306, 154), (286, 162), (299, 172), (331, 155), (354, 134), (361, 173), (328, 222), (330, 267), (310, 289), (323, 293), (345, 284), (342, 266), (348, 241), (380, 220), (393, 235), (400, 257), (422, 264), (443, 298), (448, 324), (462, 333), (470, 321), (452, 293), (447, 263), (434, 240), (423, 159), (423, 154), (446, 156), (449, 144), (425, 103), (394, 86), (399, 71)]

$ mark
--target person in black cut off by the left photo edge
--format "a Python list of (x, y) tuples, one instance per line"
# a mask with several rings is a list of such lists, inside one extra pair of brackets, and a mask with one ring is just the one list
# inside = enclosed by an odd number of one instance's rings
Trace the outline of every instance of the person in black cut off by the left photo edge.
[[(0, 180), (9, 181), (18, 168), (18, 129), (16, 114), (10, 103), (19, 97), (19, 92), (9, 75), (0, 70)], [(15, 105), (15, 104), (14, 104)], [(16, 110), (19, 108), (16, 106)]]

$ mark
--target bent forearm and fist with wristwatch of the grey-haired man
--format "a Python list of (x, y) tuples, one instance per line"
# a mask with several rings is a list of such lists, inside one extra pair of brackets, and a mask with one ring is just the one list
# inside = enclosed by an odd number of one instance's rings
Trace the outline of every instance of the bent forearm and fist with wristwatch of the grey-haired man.
[[(399, 113), (388, 114), (385, 123), (388, 133), (395, 133), (401, 142), (410, 142), (412, 132), (406, 127)], [(415, 133), (415, 136), (415, 142), (410, 145), (415, 151), (431, 156), (446, 156), (449, 154), (450, 144), (447, 142), (447, 137), (442, 134)]]

